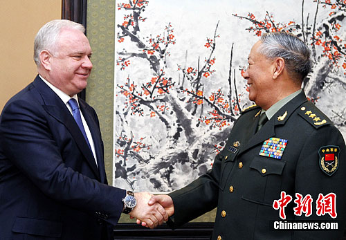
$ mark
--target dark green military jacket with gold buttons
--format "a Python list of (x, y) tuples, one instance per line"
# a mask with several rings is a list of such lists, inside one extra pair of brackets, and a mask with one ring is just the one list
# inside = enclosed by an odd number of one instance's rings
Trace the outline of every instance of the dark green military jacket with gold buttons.
[[(343, 136), (325, 114), (307, 101), (304, 93), (293, 98), (255, 133), (259, 111), (259, 107), (253, 107), (242, 113), (210, 172), (170, 194), (175, 210), (172, 227), (217, 207), (212, 239), (341, 239), (346, 216)], [(260, 156), (268, 138), (287, 140), (280, 160)], [(318, 154), (321, 147), (329, 145), (340, 148), (336, 154), (338, 169), (331, 176), (322, 171)], [(272, 221), (283, 221), (279, 210), (273, 208), (273, 201), (280, 199), (282, 191), (293, 197), (285, 208), (286, 220), (310, 221), (334, 220), (329, 214), (316, 215), (316, 201), (320, 193), (335, 193), (338, 231), (274, 230)], [(295, 216), (295, 193), (312, 196), (311, 216)]]

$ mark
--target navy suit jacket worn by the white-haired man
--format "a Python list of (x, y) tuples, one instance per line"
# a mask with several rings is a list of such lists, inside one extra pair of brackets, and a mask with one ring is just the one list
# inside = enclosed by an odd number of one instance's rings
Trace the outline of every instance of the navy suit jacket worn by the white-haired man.
[(95, 240), (116, 225), (125, 190), (107, 185), (98, 117), (86, 102), (79, 103), (98, 167), (69, 109), (39, 76), (4, 107), (1, 240)]

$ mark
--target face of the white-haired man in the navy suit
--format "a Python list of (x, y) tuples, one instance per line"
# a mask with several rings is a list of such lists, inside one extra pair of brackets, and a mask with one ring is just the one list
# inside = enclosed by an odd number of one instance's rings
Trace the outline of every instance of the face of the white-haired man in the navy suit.
[(57, 39), (57, 50), (51, 57), (48, 81), (67, 95), (86, 88), (91, 68), (89, 40), (80, 30), (63, 29)]

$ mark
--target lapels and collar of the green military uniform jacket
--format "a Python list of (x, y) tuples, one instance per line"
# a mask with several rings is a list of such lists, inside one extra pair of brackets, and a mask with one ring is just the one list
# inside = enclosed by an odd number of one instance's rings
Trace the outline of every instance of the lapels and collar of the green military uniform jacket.
[[(277, 113), (275, 113), (271, 120), (268, 120), (268, 122), (264, 124), (260, 131), (257, 131), (257, 133), (255, 133), (255, 129), (260, 118), (260, 114), (258, 114), (258, 116), (253, 118), (253, 124), (251, 125), (251, 133), (253, 134), (253, 136), (251, 138), (248, 138), (248, 142), (246, 143), (246, 145), (244, 145), (244, 147), (242, 147), (242, 149), (240, 149), (239, 154), (242, 154), (242, 152), (247, 151), (248, 149), (251, 149), (256, 145), (262, 144), (268, 138), (272, 138), (273, 136), (275, 136), (275, 128), (277, 126), (285, 124), (291, 114), (295, 111), (295, 109), (297, 109), (304, 102), (307, 102), (307, 97), (305, 96), (304, 92), (302, 92), (295, 98), (293, 98), (293, 100), (285, 104), (284, 107), (282, 107), (279, 111), (277, 111)], [(281, 116), (284, 116), (284, 118), (279, 118)]]

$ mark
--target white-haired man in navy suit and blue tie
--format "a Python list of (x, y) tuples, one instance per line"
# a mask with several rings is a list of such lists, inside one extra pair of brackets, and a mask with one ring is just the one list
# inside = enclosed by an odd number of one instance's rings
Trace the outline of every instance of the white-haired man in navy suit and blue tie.
[(86, 88), (91, 47), (68, 20), (35, 37), (39, 75), (0, 117), (0, 239), (113, 239), (122, 212), (151, 228), (167, 220), (149, 193), (107, 185), (98, 117), (77, 97)]

